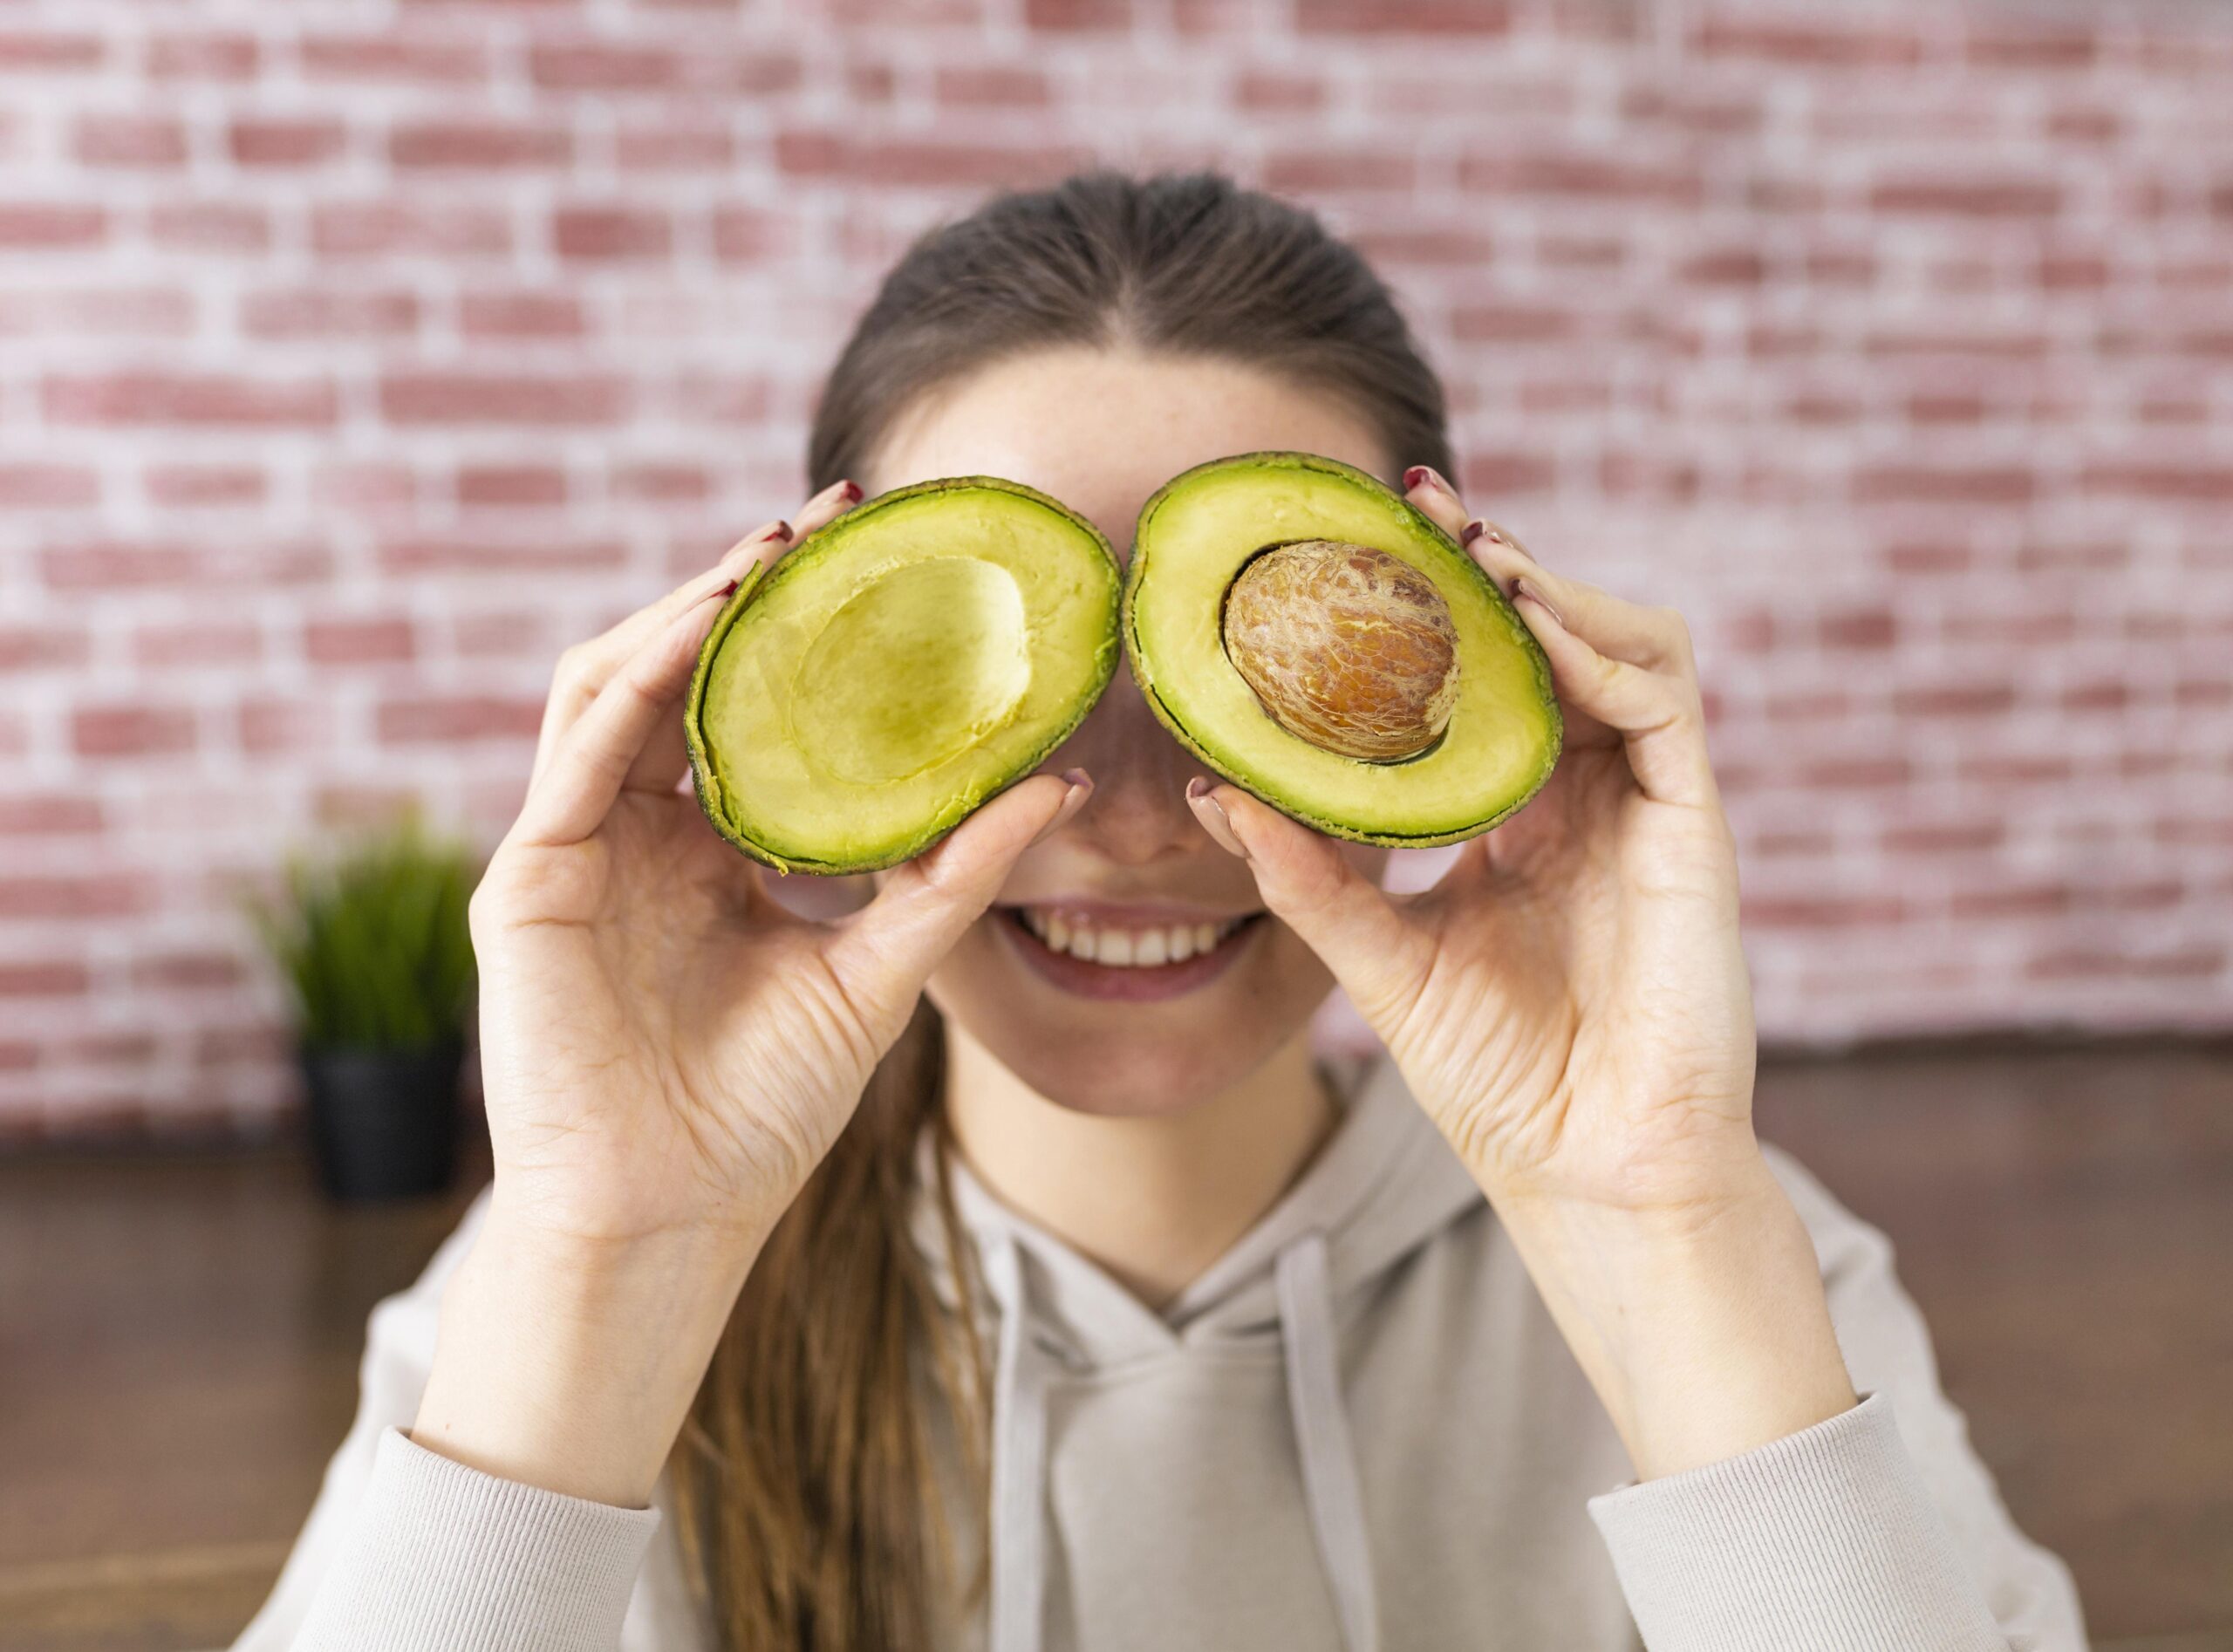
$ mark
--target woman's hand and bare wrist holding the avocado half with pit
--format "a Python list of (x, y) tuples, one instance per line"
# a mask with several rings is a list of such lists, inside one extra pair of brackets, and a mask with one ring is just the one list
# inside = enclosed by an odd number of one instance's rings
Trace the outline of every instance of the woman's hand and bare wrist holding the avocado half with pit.
[[(1411, 502), (1465, 540), (1449, 484), (1411, 480)], [(1467, 551), (1543, 645), (1565, 717), (1565, 752), (1525, 810), (1467, 842), (1434, 889), (1389, 895), (1237, 786), (1197, 781), (1190, 797), (1387, 1043), (1639, 1471), (1664, 1473), (1820, 1422), (1853, 1393), (1813, 1248), (1753, 1139), (1737, 855), (1688, 630), (1547, 572), (1494, 525)], [(1764, 1362), (1751, 1380), (1735, 1368), (1746, 1348)], [(1731, 1386), (1751, 1400), (1731, 1406)]]

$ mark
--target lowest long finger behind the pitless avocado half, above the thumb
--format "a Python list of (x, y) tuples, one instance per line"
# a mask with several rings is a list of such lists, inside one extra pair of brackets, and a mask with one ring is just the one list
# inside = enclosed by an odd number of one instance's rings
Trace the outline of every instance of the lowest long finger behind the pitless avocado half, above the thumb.
[(527, 806), (511, 826), (516, 842), (563, 848), (583, 842), (605, 822), (652, 730), (661, 721), (679, 721), (674, 703), (721, 612), (719, 598), (732, 589), (706, 592), (612, 674), (590, 710), (560, 737), (543, 777), (527, 788)]

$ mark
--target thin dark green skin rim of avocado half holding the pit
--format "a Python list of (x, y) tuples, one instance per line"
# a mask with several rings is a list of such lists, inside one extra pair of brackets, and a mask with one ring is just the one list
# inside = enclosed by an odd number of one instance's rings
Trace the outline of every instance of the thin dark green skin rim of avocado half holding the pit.
[[(1340, 480), (1344, 480), (1344, 482), (1349, 482), (1349, 484), (1353, 484), (1358, 489), (1364, 489), (1369, 493), (1378, 493), (1384, 500), (1391, 500), (1405, 513), (1405, 518), (1409, 518), (1409, 522), (1413, 525), (1413, 529), (1420, 536), (1425, 536), (1425, 538), (1429, 538), (1429, 540), (1447, 547), (1449, 556), (1454, 558), (1454, 565), (1463, 567), (1469, 578), (1478, 580), (1480, 587), (1483, 587), (1483, 592), (1489, 596), (1489, 601), (1496, 607), (1505, 609), (1512, 616), (1514, 632), (1516, 632), (1521, 645), (1525, 647), (1530, 663), (1534, 665), (1536, 692), (1539, 692), (1539, 697), (1543, 701), (1543, 712), (1550, 719), (1550, 743), (1547, 743), (1547, 748), (1543, 752), (1543, 763), (1536, 770), (1536, 775), (1527, 781), (1525, 790), (1521, 790), (1521, 795), (1512, 804), (1507, 804), (1496, 815), (1492, 815), (1492, 817), (1487, 817), (1487, 819), (1483, 819), (1478, 824), (1472, 824), (1472, 826), (1465, 826), (1465, 828), (1458, 828), (1458, 830), (1447, 830), (1447, 833), (1402, 835), (1402, 833), (1362, 830), (1362, 828), (1351, 826), (1346, 822), (1326, 819), (1326, 817), (1315, 815), (1315, 813), (1311, 813), (1306, 808), (1300, 808), (1300, 806), (1291, 804), (1288, 799), (1268, 793), (1264, 786), (1259, 786), (1255, 781), (1248, 781), (1242, 775), (1233, 772), (1217, 757), (1217, 752), (1213, 752), (1208, 746), (1204, 746), (1201, 741), (1195, 739), (1195, 734), (1186, 728), (1186, 723), (1179, 721), (1179, 717), (1170, 710), (1170, 705), (1163, 701), (1163, 697), (1157, 694), (1157, 690), (1154, 690), (1154, 670), (1148, 663), (1146, 650), (1141, 650), (1141, 645), (1139, 645), (1139, 632), (1134, 630), (1134, 623), (1132, 623), (1134, 598), (1139, 596), (1141, 580), (1146, 578), (1146, 572), (1148, 572), (1148, 558), (1141, 556), (1141, 545), (1148, 540), (1148, 527), (1154, 520), (1157, 509), (1161, 509), (1161, 505), (1168, 498), (1172, 498), (1175, 493), (1183, 491), (1190, 482), (1197, 482), (1197, 480), (1201, 480), (1208, 473), (1228, 471), (1228, 469), (1244, 469), (1244, 467), (1320, 471), (1324, 476), (1335, 476), (1335, 478), (1340, 478)], [(1172, 737), (1186, 750), (1190, 750), (1195, 757), (1199, 757), (1201, 763), (1213, 775), (1219, 775), (1221, 779), (1230, 781), (1233, 786), (1239, 786), (1250, 797), (1255, 797), (1255, 799), (1259, 799), (1264, 804), (1271, 804), (1282, 815), (1291, 815), (1293, 819), (1300, 819), (1304, 826), (1309, 826), (1309, 828), (1313, 828), (1317, 833), (1324, 833), (1326, 837), (1342, 837), (1342, 839), (1346, 839), (1351, 844), (1378, 844), (1382, 848), (1436, 848), (1440, 844), (1460, 844), (1460, 842), (1465, 842), (1469, 837), (1478, 837), (1480, 833), (1485, 833), (1485, 830), (1489, 830), (1494, 826), (1501, 826), (1503, 822), (1507, 822), (1516, 813), (1521, 813), (1534, 799), (1534, 795), (1539, 790), (1543, 790), (1543, 784), (1550, 779), (1552, 768), (1559, 766), (1559, 750), (1561, 750), (1561, 746), (1565, 741), (1565, 723), (1563, 723), (1563, 719), (1559, 714), (1559, 692), (1552, 685), (1550, 659), (1543, 654), (1543, 645), (1534, 641), (1534, 634), (1518, 618), (1518, 612), (1512, 607), (1510, 598), (1501, 589), (1496, 589), (1496, 580), (1492, 580), (1487, 576), (1487, 572), (1483, 572), (1480, 563), (1476, 563), (1472, 556), (1467, 556), (1465, 547), (1460, 547), (1454, 538), (1449, 538), (1449, 534), (1445, 534), (1443, 527), (1431, 516), (1427, 516), (1425, 511), (1420, 511), (1411, 500), (1407, 500), (1402, 493), (1398, 493), (1396, 489), (1391, 489), (1378, 476), (1373, 476), (1369, 471), (1360, 471), (1355, 464), (1344, 464), (1342, 460), (1329, 460), (1329, 458), (1324, 458), (1320, 453), (1282, 453), (1282, 451), (1235, 453), (1230, 458), (1208, 460), (1204, 464), (1195, 464), (1192, 469), (1179, 471), (1179, 476), (1175, 476), (1168, 482), (1163, 482), (1163, 487), (1159, 487), (1154, 491), (1154, 496), (1141, 507), (1141, 511), (1139, 511), (1139, 527), (1132, 534), (1132, 565), (1130, 565), (1130, 569), (1125, 569), (1121, 625), (1123, 625), (1123, 652), (1125, 652), (1125, 661), (1130, 661), (1130, 665), (1132, 665), (1132, 681), (1139, 683), (1139, 692), (1148, 699), (1148, 710), (1154, 712), (1154, 719), (1163, 728), (1168, 728), (1172, 732)], [(1371, 763), (1360, 763), (1360, 768), (1373, 768), (1373, 766)]]

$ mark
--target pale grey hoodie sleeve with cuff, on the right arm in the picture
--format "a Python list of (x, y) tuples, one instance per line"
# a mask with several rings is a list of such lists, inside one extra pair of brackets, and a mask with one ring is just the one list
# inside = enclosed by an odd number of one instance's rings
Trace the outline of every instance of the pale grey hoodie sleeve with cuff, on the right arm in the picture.
[(1862, 1402), (1726, 1462), (1590, 1500), (1652, 1652), (2086, 1652), (2070, 1572), (2010, 1520), (1891, 1243), (1789, 1154)]

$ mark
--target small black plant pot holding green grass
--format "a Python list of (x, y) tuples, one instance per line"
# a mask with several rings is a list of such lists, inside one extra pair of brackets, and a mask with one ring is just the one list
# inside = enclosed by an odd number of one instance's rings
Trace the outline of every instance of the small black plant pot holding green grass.
[(442, 1192), (458, 1168), (464, 1045), (304, 1049), (310, 1150), (335, 1199)]

